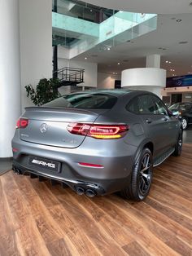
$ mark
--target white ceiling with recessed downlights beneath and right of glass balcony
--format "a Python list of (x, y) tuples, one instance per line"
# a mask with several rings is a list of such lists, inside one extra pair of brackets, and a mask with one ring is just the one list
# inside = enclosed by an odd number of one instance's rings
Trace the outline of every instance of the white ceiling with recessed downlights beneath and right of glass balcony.
[[(185, 0), (180, 0), (180, 2), (185, 2)], [(111, 51), (98, 51), (98, 47), (95, 47), (74, 59), (98, 63), (99, 72), (120, 74), (126, 68), (145, 67), (146, 55), (159, 54), (161, 55), (161, 68), (167, 69), (168, 77), (172, 74), (184, 75), (192, 72), (191, 24), (192, 14), (158, 15), (157, 30), (133, 39), (133, 42), (124, 42), (119, 46), (111, 47)], [(180, 44), (179, 42), (187, 43)], [(172, 63), (166, 64), (166, 60)], [(118, 62), (120, 65), (117, 64)], [(175, 69), (175, 71), (172, 72), (170, 69)]]

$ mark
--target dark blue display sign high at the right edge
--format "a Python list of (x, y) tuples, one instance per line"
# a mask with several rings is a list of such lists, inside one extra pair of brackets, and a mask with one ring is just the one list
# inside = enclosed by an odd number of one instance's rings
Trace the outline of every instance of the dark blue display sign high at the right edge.
[(168, 77), (166, 87), (192, 86), (192, 75)]

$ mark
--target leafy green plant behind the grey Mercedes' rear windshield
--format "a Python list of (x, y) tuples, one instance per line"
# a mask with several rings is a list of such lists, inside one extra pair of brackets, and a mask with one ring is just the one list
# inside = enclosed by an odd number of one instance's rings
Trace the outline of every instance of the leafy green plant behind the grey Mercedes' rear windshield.
[(33, 104), (41, 106), (60, 96), (58, 86), (59, 79), (50, 78), (47, 80), (43, 78), (38, 82), (36, 89), (32, 85), (24, 86), (24, 88), (27, 91), (27, 97), (33, 101)]

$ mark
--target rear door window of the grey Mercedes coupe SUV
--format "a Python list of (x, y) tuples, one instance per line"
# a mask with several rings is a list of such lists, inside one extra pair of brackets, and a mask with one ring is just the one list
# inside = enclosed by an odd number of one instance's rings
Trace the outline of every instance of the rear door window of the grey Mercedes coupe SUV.
[(142, 103), (142, 114), (157, 114), (158, 110), (155, 108), (155, 104), (151, 95), (141, 95), (139, 96)]

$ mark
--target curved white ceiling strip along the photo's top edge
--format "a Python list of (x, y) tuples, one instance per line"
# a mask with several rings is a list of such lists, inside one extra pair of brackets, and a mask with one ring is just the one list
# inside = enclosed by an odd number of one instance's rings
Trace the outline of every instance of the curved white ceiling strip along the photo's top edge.
[(85, 0), (98, 7), (142, 13), (192, 13), (192, 0)]

